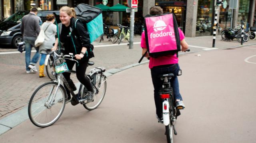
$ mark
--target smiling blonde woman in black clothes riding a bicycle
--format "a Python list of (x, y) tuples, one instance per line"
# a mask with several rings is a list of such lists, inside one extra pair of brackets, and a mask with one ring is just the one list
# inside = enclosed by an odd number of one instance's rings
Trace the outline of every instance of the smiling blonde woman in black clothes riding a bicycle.
[[(74, 64), (76, 63), (76, 77), (87, 89), (88, 89), (88, 100), (92, 101), (93, 96), (96, 92), (95, 89), (92, 88), (90, 80), (85, 76), (85, 71), (88, 65), (89, 58), (94, 57), (92, 52), (93, 45), (90, 44), (90, 36), (89, 32), (84, 28), (83, 24), (78, 20), (76, 22), (75, 27), (75, 19), (76, 12), (74, 8), (70, 8), (68, 6), (63, 6), (60, 8), (60, 21), (58, 24), (58, 32), (60, 39), (56, 38), (55, 45), (52, 50), (56, 50), (58, 46), (58, 40), (60, 40), (60, 44), (64, 47), (64, 54), (73, 53), (78, 60), (78, 63), (66, 60), (66, 64), (68, 69), (72, 69)], [(76, 90), (76, 86), (73, 81), (70, 79), (70, 74), (68, 72), (63, 73), (64, 77), (67, 79), (69, 85), (73, 89)], [(70, 100), (70, 92), (68, 91), (66, 85), (64, 87), (67, 91), (68, 99)], [(72, 105), (78, 104), (74, 99), (71, 100)]]

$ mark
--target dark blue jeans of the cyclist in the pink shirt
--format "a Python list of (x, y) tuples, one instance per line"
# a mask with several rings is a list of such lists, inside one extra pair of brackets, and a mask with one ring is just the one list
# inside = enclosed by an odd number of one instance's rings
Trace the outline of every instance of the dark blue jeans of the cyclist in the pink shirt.
[(172, 79), (170, 80), (170, 83), (173, 89), (174, 99), (182, 100), (182, 97), (180, 95), (180, 89), (179, 89), (179, 81), (177, 77), (179, 71), (180, 71), (179, 64), (157, 66), (151, 69), (151, 77), (154, 85), (154, 99), (156, 104), (156, 114), (158, 115), (158, 117), (162, 117), (162, 101), (160, 99), (158, 91), (162, 88), (162, 85), (164, 83), (164, 81), (159, 78), (159, 75), (166, 74), (166, 73), (174, 74), (174, 77), (172, 77)]

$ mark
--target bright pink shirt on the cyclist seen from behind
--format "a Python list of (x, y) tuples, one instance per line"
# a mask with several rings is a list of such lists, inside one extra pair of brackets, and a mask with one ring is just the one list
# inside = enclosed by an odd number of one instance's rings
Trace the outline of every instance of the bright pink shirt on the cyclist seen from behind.
[[(178, 29), (179, 29), (180, 41), (182, 41), (185, 38), (185, 36), (184, 36), (184, 33), (180, 30), (180, 28), (178, 28)], [(142, 32), (140, 46), (142, 48), (147, 48), (145, 32)], [(168, 64), (177, 64), (178, 61), (179, 61), (179, 58), (177, 58), (176, 54), (168, 55), (168, 56), (161, 56), (161, 57), (158, 57), (158, 58), (150, 57), (149, 68), (152, 69), (155, 66), (168, 65)]]

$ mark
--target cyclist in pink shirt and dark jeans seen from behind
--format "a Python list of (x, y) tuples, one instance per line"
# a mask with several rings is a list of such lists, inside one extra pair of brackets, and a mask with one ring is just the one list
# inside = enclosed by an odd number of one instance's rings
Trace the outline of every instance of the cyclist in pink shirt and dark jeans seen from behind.
[[(160, 15), (163, 14), (163, 10), (160, 6), (153, 6), (150, 8), (150, 15)], [(180, 45), (182, 46), (181, 51), (186, 51), (188, 49), (188, 44), (185, 41), (185, 36), (183, 32), (179, 29), (179, 35), (180, 35)], [(144, 55), (145, 52), (147, 52), (147, 46), (146, 46), (146, 38), (145, 38), (145, 32), (142, 33), (141, 36), (141, 47), (142, 47), (142, 55)], [(148, 53), (146, 54), (146, 57), (149, 58), (150, 56)], [(162, 122), (162, 102), (160, 99), (160, 95), (158, 91), (162, 88), (163, 82), (159, 75), (165, 74), (165, 73), (174, 73), (174, 77), (171, 79), (171, 85), (173, 88), (174, 93), (174, 101), (176, 102), (176, 107), (182, 107), (182, 109), (185, 108), (185, 105), (182, 102), (182, 97), (180, 95), (179, 91), (179, 82), (178, 82), (178, 72), (180, 70), (179, 64), (178, 64), (178, 58), (176, 54), (174, 55), (168, 55), (168, 56), (161, 56), (158, 58), (150, 57), (149, 61), (149, 68), (151, 70), (151, 77), (152, 82), (154, 85), (154, 99), (155, 99), (155, 105), (156, 105), (156, 117), (158, 118), (158, 121)]]

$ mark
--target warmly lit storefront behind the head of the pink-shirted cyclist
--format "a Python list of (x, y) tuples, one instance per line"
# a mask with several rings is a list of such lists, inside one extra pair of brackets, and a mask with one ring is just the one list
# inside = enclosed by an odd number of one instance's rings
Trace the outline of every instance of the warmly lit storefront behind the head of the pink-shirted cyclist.
[(185, 33), (186, 25), (186, 0), (156, 0), (156, 6), (161, 6), (164, 13), (171, 12), (175, 14), (178, 26)]

